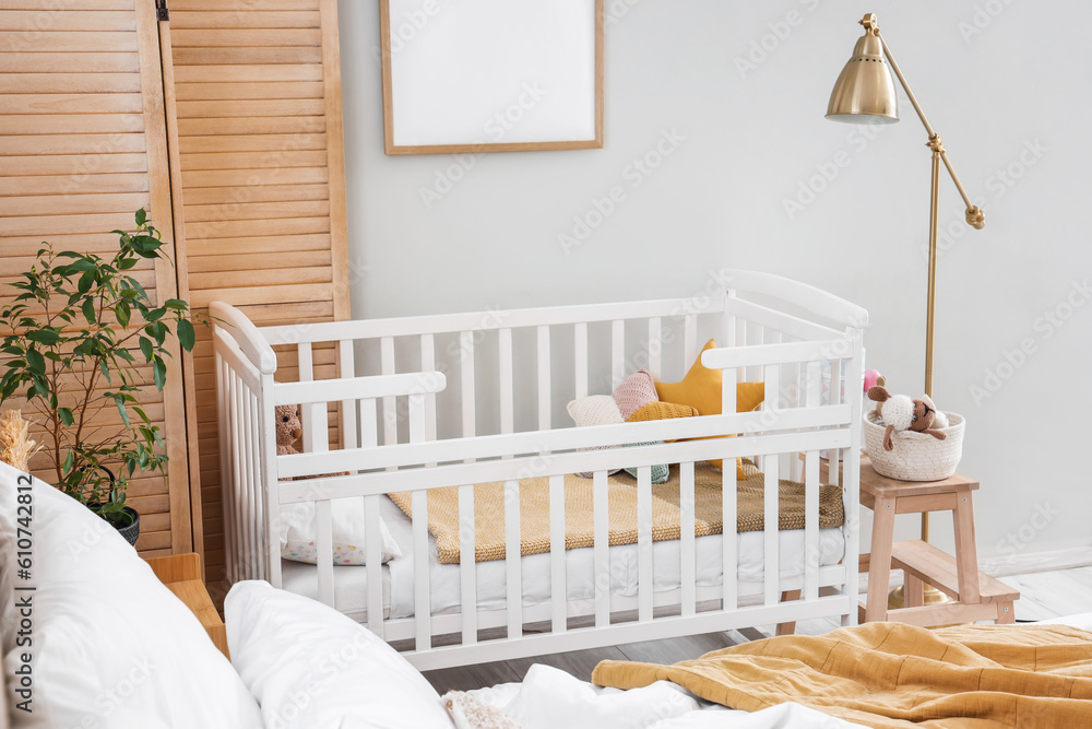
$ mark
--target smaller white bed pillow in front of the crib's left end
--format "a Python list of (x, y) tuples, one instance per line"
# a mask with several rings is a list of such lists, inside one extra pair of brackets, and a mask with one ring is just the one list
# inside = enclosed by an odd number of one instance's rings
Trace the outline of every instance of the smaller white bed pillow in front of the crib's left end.
[(425, 677), (333, 608), (250, 580), (232, 588), (224, 611), (232, 663), (268, 727), (452, 728)]

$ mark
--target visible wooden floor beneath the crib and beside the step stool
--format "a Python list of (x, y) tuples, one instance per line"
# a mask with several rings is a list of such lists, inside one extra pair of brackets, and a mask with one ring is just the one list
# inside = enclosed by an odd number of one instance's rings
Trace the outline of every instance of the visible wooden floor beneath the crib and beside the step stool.
[[(998, 574), (1004, 573), (1004, 569), (987, 569), (987, 572), (1020, 590), (1021, 597), (1016, 603), (1018, 622), (1092, 612), (1092, 567), (1082, 566), (1022, 575)], [(891, 581), (892, 586), (900, 584), (901, 573), (892, 573)], [(863, 585), (862, 589), (867, 589), (867, 586)], [(796, 632), (798, 634), (821, 635), (838, 626), (833, 620), (812, 620), (798, 623)], [(601, 660), (673, 663), (697, 658), (710, 650), (719, 650), (748, 640), (768, 637), (772, 635), (773, 628), (773, 625), (764, 625), (745, 631), (708, 633), (668, 640), (629, 643), (592, 650), (428, 671), (425, 677), (441, 694), (447, 691), (470, 691), (497, 683), (522, 681), (534, 663), (546, 663), (586, 681), (591, 677), (592, 669)]]

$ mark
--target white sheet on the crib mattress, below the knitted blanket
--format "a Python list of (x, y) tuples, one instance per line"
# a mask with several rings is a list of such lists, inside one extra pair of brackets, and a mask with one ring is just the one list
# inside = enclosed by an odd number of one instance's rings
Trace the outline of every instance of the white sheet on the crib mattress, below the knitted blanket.
[[(402, 550), (402, 557), (383, 568), (383, 607), (390, 618), (410, 618), (414, 614), (413, 534), (410, 518), (391, 499), (383, 498), (380, 509), (391, 534)], [(764, 575), (764, 537), (760, 531), (737, 534), (739, 568), (737, 579), (745, 583), (761, 581)], [(804, 574), (804, 531), (779, 533), (779, 562), (782, 579)], [(697, 550), (697, 584), (712, 587), (721, 584), (721, 534), (699, 537)], [(845, 543), (841, 529), (822, 529), (819, 532), (820, 565), (838, 564)], [(681, 542), (653, 542), (654, 588), (673, 590), (681, 581)], [(566, 592), (569, 600), (587, 600), (595, 596), (592, 549), (566, 552)], [(638, 545), (621, 544), (609, 549), (610, 591), (613, 595), (636, 596), (638, 591)], [(458, 613), (461, 604), (460, 566), (440, 564), (436, 556), (435, 540), (429, 536), (429, 598), (434, 614)], [(550, 599), (550, 556), (532, 554), (521, 557), (523, 573), (523, 604), (542, 604)], [(282, 562), (290, 565), (284, 569), (287, 590), (318, 597), (318, 579), (313, 565)], [(478, 608), (496, 610), (505, 607), (507, 573), (503, 561), (476, 564)], [(367, 604), (367, 569), (364, 567), (334, 567), (334, 607), (357, 618)]]

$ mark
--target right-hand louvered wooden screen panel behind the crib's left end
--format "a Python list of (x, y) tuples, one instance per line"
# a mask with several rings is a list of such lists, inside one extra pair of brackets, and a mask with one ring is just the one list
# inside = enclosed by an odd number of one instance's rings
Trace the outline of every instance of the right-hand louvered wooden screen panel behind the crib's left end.
[[(336, 0), (170, 0), (171, 146), (182, 294), (259, 324), (348, 316)], [(173, 125), (171, 125), (173, 126)], [(333, 350), (316, 352), (329, 377)], [(191, 358), (190, 450), (200, 479), (205, 577), (223, 574), (212, 346)], [(285, 357), (282, 377), (294, 377)], [(334, 434), (336, 437), (336, 434)]]

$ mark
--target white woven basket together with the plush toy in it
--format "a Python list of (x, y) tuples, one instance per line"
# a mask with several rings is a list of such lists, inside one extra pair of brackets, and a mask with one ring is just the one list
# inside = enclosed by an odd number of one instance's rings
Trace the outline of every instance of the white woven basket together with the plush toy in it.
[(868, 390), (882, 403), (865, 413), (865, 448), (877, 473), (901, 481), (939, 481), (956, 472), (963, 455), (963, 418), (937, 410), (924, 396), (912, 400), (883, 386)]

